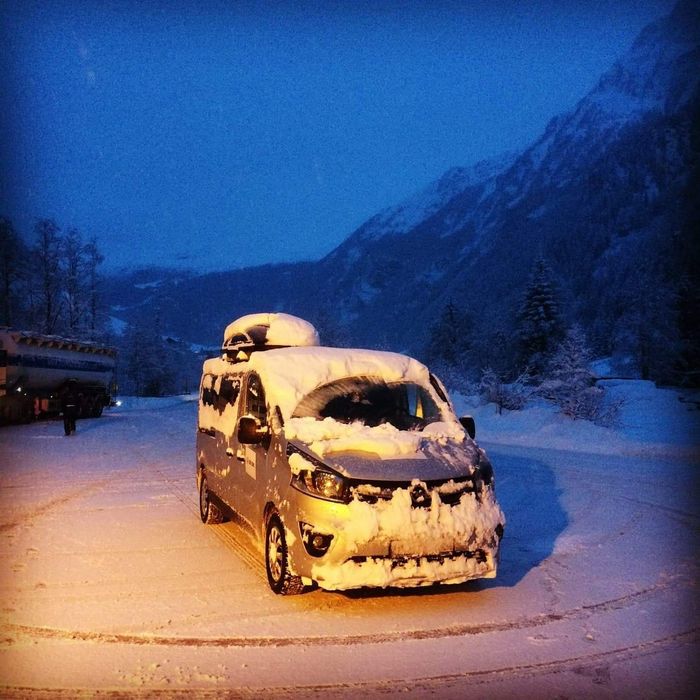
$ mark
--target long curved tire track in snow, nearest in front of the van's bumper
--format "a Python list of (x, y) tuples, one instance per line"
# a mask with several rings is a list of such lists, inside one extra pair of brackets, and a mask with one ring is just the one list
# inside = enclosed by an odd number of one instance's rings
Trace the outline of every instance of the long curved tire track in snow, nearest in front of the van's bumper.
[[(672, 583), (678, 583), (679, 578)], [(2, 629), (17, 636), (58, 639), (100, 644), (132, 644), (165, 647), (285, 647), (285, 646), (353, 646), (358, 644), (387, 644), (405, 640), (443, 639), (446, 637), (464, 637), (470, 635), (489, 634), (493, 632), (509, 632), (543, 627), (550, 623), (586, 620), (596, 614), (621, 610), (643, 603), (673, 586), (672, 583), (657, 583), (633, 593), (602, 601), (590, 603), (570, 610), (542, 613), (531, 617), (523, 617), (504, 622), (491, 622), (481, 625), (453, 625), (449, 627), (403, 630), (381, 634), (360, 635), (329, 635), (316, 637), (165, 637), (146, 634), (123, 634), (108, 632), (91, 632), (84, 630), (63, 630), (50, 627), (33, 627), (29, 625), (6, 624)], [(682, 634), (700, 633), (700, 627), (691, 627)]]

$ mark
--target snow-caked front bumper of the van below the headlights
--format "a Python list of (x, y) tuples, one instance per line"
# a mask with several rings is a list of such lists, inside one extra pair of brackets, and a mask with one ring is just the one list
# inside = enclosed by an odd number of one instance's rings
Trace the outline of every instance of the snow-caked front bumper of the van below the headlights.
[[(327, 590), (417, 587), (494, 578), (503, 513), (493, 498), (388, 512), (386, 504), (304, 498), (290, 542), (294, 572)], [(301, 503), (299, 504), (302, 505)], [(320, 549), (312, 543), (325, 543)]]

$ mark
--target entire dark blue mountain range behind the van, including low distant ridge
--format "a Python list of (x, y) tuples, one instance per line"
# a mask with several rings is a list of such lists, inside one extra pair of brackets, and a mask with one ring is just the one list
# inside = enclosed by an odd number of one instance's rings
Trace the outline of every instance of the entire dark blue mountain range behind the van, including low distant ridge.
[(478, 364), (494, 333), (512, 336), (529, 270), (544, 257), (566, 320), (601, 351), (623, 342), (633, 308), (663, 330), (669, 300), (700, 272), (699, 26), (700, 4), (678, 3), (529, 148), (448, 171), (320, 261), (144, 288), (119, 313), (156, 305), (174, 333), (216, 342), (242, 313), (284, 310), (358, 345), (420, 355), (452, 302), (472, 317)]

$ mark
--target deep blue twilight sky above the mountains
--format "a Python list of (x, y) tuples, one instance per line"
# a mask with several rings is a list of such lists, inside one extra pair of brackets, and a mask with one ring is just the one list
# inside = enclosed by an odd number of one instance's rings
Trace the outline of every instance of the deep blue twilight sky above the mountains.
[(524, 148), (672, 0), (2, 0), (0, 216), (105, 267), (315, 259)]

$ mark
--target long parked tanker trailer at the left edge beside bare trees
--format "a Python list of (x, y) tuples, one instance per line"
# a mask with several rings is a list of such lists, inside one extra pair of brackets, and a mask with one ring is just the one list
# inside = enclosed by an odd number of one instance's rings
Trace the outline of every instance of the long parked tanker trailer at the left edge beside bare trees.
[(56, 415), (68, 382), (79, 397), (78, 417), (108, 406), (117, 351), (97, 343), (0, 329), (0, 422)]

